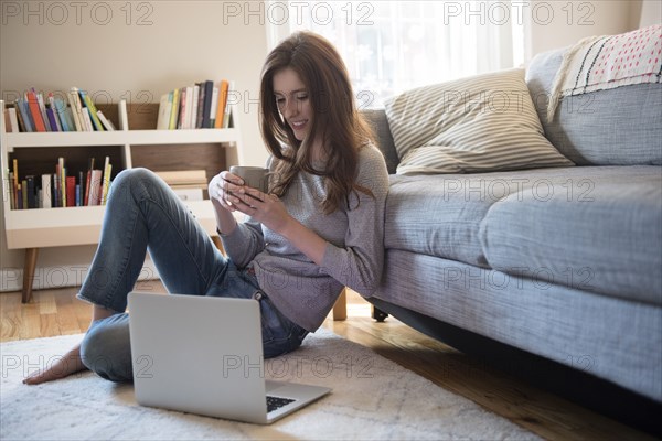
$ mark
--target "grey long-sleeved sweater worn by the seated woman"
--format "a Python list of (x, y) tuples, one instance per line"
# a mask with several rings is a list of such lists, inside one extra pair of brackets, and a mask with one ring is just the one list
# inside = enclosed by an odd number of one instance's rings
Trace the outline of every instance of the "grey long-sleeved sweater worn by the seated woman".
[(374, 146), (359, 153), (357, 183), (374, 197), (353, 192), (349, 207), (324, 215), (325, 190), (321, 176), (300, 172), (280, 198), (288, 213), (327, 240), (318, 266), (282, 236), (247, 217), (223, 246), (238, 268), (253, 265), (260, 288), (274, 305), (299, 326), (316, 331), (349, 287), (370, 297), (384, 263), (384, 205), (388, 172)]

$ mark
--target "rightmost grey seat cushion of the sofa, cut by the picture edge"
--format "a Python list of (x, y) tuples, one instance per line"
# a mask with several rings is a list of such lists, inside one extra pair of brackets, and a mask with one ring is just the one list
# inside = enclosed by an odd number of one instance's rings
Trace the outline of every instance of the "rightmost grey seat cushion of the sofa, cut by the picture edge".
[(481, 223), (500, 271), (662, 305), (662, 169), (536, 171)]

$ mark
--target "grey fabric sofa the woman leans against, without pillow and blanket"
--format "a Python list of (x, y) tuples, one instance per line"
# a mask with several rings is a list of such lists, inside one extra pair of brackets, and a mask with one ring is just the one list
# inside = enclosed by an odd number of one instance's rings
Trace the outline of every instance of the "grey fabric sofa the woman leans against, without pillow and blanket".
[[(403, 176), (383, 110), (385, 271), (369, 298), (451, 346), (661, 432), (662, 85), (546, 104), (563, 51), (526, 84), (577, 166)], [(384, 318), (382, 315), (381, 318)], [(662, 415), (662, 412), (658, 413)]]

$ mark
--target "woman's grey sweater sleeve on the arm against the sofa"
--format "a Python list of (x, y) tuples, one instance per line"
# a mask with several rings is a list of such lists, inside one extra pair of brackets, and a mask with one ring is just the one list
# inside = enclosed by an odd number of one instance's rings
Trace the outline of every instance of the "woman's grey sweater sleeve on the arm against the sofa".
[[(348, 206), (348, 230), (343, 247), (328, 244), (322, 270), (363, 297), (371, 297), (384, 266), (384, 207), (388, 172), (382, 153), (373, 146), (362, 150), (359, 185), (372, 195), (356, 191)], [(373, 197), (374, 196), (374, 197)]]

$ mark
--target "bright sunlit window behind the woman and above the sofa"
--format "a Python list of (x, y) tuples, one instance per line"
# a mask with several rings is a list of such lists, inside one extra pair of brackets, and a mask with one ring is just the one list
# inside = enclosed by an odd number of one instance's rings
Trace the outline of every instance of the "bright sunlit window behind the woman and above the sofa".
[(510, 0), (271, 1), (267, 8), (271, 47), (302, 29), (329, 39), (345, 61), (361, 107), (522, 63), (522, 23)]

